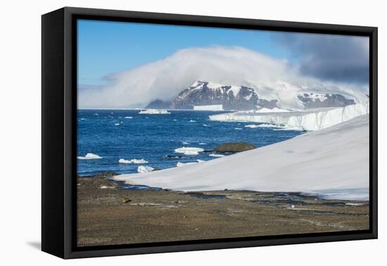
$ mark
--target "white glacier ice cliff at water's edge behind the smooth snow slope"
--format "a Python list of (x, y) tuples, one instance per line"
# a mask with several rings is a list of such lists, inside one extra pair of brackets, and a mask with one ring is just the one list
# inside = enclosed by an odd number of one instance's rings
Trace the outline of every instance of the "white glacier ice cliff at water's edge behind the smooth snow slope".
[[(259, 110), (258, 110), (259, 112)], [(214, 121), (239, 121), (239, 122), (262, 122), (282, 125), (286, 128), (302, 129), (307, 131), (319, 130), (341, 122), (350, 120), (359, 115), (368, 114), (367, 103), (357, 103), (340, 108), (324, 108), (304, 112), (284, 113), (223, 113), (210, 115)]]

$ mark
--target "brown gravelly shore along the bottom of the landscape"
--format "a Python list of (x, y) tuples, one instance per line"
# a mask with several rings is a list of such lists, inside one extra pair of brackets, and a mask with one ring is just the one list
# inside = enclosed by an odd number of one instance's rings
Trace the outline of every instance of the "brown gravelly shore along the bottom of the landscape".
[(368, 201), (298, 193), (181, 192), (77, 178), (77, 245), (101, 246), (369, 229)]

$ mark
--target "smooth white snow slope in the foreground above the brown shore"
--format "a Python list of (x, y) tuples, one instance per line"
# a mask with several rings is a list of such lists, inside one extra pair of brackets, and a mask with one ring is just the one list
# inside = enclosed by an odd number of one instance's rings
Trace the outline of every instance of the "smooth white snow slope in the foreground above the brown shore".
[(113, 179), (177, 191), (298, 191), (367, 199), (369, 116), (204, 163)]

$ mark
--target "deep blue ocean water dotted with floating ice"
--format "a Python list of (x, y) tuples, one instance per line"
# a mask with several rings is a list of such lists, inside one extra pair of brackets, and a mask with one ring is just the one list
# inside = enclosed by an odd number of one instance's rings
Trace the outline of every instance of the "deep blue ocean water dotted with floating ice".
[[(105, 171), (135, 173), (139, 165), (166, 169), (176, 167), (179, 162), (216, 159), (207, 152), (196, 156), (175, 153), (176, 148), (211, 150), (220, 144), (236, 141), (246, 141), (261, 147), (303, 133), (278, 130), (275, 127), (245, 127), (260, 123), (210, 121), (208, 116), (216, 113), (224, 111), (170, 110), (170, 114), (151, 115), (139, 114), (139, 110), (78, 110), (77, 156), (94, 153), (101, 157), (96, 160), (77, 160), (78, 175), (95, 175)], [(144, 159), (148, 163), (118, 163), (121, 158)]]

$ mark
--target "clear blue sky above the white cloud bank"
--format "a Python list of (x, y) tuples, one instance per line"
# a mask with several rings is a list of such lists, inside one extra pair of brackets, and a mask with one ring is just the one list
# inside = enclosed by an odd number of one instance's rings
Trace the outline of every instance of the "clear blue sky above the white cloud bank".
[(78, 21), (78, 83), (107, 84), (109, 74), (170, 56), (179, 49), (243, 46), (290, 62), (298, 56), (279, 44), (283, 32), (96, 20)]

